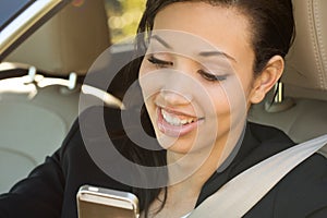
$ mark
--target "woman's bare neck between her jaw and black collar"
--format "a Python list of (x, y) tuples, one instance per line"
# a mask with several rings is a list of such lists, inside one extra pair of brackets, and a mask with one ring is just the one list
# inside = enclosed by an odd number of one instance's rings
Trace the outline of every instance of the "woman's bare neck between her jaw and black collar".
[(168, 186), (177, 190), (189, 187), (189, 192), (198, 194), (204, 183), (231, 155), (240, 137), (243, 136), (244, 126), (240, 123), (232, 135), (229, 136), (231, 132), (220, 135), (213, 147), (206, 146), (186, 154), (167, 150)]

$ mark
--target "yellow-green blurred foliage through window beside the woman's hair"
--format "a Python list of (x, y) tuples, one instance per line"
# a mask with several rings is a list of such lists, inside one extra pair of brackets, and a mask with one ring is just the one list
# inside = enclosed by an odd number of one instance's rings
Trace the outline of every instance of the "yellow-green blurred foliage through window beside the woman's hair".
[(111, 41), (119, 43), (136, 33), (146, 0), (106, 0)]

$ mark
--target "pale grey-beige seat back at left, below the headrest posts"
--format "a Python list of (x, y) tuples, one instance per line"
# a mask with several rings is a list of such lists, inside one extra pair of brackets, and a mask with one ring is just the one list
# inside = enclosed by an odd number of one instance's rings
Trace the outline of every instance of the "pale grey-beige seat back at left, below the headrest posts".
[(0, 193), (58, 149), (78, 111), (78, 92), (9, 80), (21, 93), (2, 92), (0, 81)]

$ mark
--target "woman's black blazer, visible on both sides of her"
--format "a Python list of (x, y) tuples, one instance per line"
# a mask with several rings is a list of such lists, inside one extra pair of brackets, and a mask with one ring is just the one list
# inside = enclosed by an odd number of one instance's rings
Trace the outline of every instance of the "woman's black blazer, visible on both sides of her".
[[(89, 157), (78, 125), (85, 121), (92, 136), (97, 137), (98, 120), (93, 113), (100, 108), (84, 112), (71, 128), (62, 146), (29, 175), (15, 184), (9, 193), (0, 195), (0, 217), (51, 218), (77, 217), (76, 193), (81, 185), (92, 184), (132, 192), (104, 173)], [(105, 109), (108, 123), (121, 129), (120, 111)], [(125, 138), (120, 138), (123, 142)], [(247, 123), (244, 140), (237, 157), (222, 172), (216, 172), (204, 184), (197, 199), (199, 205), (226, 182), (261, 160), (293, 145), (281, 131), (255, 123)], [(46, 145), (45, 145), (46, 146)], [(274, 169), (271, 169), (274, 170)], [(3, 177), (3, 175), (1, 175)], [(283, 178), (246, 218), (326, 218), (327, 217), (327, 160), (315, 154)]]

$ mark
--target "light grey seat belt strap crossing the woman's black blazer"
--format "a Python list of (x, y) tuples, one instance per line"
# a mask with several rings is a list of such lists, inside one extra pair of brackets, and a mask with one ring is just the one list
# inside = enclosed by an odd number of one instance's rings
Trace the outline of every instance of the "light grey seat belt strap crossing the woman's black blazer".
[(187, 218), (240, 218), (287, 173), (327, 145), (327, 134), (301, 143), (243, 171), (205, 199)]

